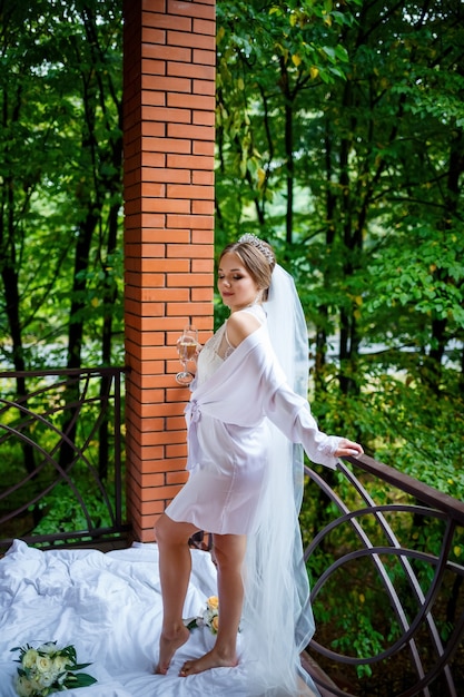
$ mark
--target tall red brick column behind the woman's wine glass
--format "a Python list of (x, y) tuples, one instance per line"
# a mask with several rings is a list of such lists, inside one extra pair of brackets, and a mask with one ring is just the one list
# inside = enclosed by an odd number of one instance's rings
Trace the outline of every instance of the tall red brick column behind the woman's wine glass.
[(125, 2), (127, 505), (134, 534), (185, 481), (176, 340), (213, 328), (215, 0)]

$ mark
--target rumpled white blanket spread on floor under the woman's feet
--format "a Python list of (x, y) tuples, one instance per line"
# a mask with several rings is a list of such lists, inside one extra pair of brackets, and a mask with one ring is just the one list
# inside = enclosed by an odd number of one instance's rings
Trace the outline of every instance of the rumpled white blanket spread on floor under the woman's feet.
[[(208, 552), (192, 550), (185, 618), (200, 613), (216, 595), (216, 568)], [(194, 629), (167, 676), (155, 676), (161, 626), (156, 544), (102, 553), (42, 552), (16, 541), (0, 560), (0, 697), (14, 697), (18, 654), (30, 644), (72, 644), (79, 662), (98, 683), (68, 697), (246, 697), (244, 664), (179, 678), (188, 658), (213, 646), (208, 628)]]

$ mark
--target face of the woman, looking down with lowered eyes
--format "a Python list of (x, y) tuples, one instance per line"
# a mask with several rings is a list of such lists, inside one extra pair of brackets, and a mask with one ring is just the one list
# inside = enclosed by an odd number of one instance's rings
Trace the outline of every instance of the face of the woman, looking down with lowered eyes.
[(217, 287), (223, 303), (231, 312), (251, 305), (259, 294), (259, 288), (240, 258), (227, 253), (219, 263)]

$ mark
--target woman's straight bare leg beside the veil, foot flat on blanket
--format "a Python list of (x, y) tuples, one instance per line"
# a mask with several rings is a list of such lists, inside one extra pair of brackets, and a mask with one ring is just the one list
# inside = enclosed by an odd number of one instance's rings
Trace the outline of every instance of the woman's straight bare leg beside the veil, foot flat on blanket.
[(244, 534), (215, 534), (218, 568), (219, 628), (214, 648), (197, 660), (188, 660), (181, 676), (210, 668), (237, 665), (237, 632), (244, 603), (241, 567), (246, 551)]

